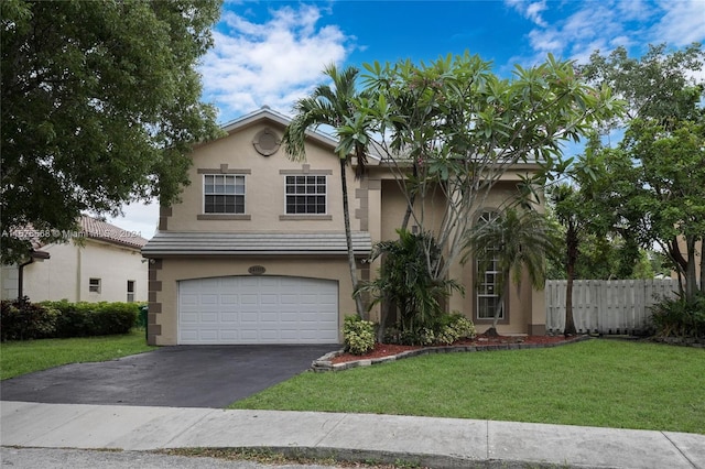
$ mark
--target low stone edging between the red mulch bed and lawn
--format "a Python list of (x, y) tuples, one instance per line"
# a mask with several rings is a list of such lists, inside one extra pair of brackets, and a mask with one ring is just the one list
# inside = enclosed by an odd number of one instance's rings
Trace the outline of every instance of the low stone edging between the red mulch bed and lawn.
[(590, 336), (577, 336), (568, 340), (556, 343), (496, 343), (487, 346), (438, 346), (438, 347), (424, 347), (415, 350), (406, 350), (397, 355), (390, 355), (388, 357), (373, 358), (373, 359), (360, 359), (354, 361), (346, 361), (344, 363), (333, 363), (333, 359), (338, 357), (345, 351), (343, 349), (326, 353), (317, 360), (311, 363), (311, 370), (315, 372), (325, 371), (343, 371), (357, 367), (371, 367), (372, 364), (389, 363), (397, 360), (402, 360), (410, 357), (420, 357), (432, 353), (455, 353), (455, 352), (482, 352), (482, 351), (497, 351), (497, 350), (527, 350), (527, 349), (544, 349), (552, 347), (561, 347), (570, 343), (583, 342), (590, 340)]

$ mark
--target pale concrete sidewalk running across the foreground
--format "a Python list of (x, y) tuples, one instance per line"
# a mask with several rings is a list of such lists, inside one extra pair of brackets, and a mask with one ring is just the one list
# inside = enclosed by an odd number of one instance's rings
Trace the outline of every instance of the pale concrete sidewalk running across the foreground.
[[(0, 443), (151, 450), (269, 447), (433, 468), (517, 462), (705, 469), (705, 435), (314, 412), (0, 403)], [(499, 466), (499, 467), (505, 467)]]

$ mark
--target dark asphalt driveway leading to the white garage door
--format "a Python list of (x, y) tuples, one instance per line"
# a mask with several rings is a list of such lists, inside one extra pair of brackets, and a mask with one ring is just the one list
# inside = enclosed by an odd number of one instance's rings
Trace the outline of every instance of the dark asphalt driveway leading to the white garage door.
[(74, 363), (0, 384), (3, 401), (225, 407), (311, 367), (330, 346), (177, 346)]

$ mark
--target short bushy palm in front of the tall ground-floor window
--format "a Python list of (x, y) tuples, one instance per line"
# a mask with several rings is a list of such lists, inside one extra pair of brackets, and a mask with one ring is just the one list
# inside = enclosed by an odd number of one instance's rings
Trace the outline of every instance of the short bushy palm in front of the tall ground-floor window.
[(497, 324), (505, 308), (507, 280), (511, 279), (519, 288), (525, 271), (532, 286), (542, 290), (546, 273), (545, 258), (555, 255), (560, 244), (555, 230), (538, 211), (520, 212), (517, 208), (508, 208), (502, 214), (487, 215), (468, 236), (463, 262), (471, 257), (477, 261), (478, 272), (485, 272), (492, 265), (494, 270), (500, 272), (495, 284), (499, 298), (492, 326), (486, 332), (496, 336)]

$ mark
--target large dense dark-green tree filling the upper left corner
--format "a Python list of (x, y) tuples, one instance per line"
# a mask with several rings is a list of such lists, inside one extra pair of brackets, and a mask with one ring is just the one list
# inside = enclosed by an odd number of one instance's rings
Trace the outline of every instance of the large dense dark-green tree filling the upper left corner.
[(30, 249), (17, 229), (55, 241), (82, 211), (177, 198), (191, 145), (218, 133), (195, 67), (219, 6), (0, 3), (3, 262)]

